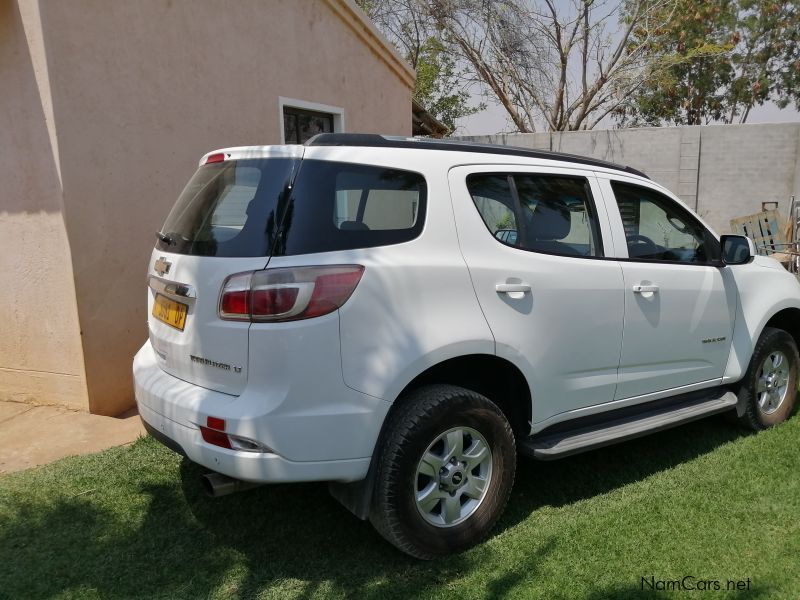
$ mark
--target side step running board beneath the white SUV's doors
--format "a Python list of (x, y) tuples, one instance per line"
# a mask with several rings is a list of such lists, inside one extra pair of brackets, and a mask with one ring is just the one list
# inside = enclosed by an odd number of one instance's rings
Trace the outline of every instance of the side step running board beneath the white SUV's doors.
[[(559, 423), (519, 442), (520, 453), (538, 460), (564, 458), (587, 450), (594, 450), (669, 429), (690, 421), (726, 412), (736, 406), (733, 392), (715, 388), (686, 396), (677, 396), (671, 402), (647, 403), (644, 406), (611, 411), (608, 415), (593, 415), (594, 423), (586, 424), (589, 417), (577, 419), (571, 429), (569, 423)], [(711, 395), (711, 397), (709, 397)], [(605, 417), (605, 418), (604, 418)], [(603, 420), (597, 420), (598, 418)]]

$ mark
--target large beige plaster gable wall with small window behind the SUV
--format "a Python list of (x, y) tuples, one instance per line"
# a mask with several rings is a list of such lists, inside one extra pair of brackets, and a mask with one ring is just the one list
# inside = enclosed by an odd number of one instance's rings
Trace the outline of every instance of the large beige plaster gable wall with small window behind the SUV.
[(154, 232), (204, 152), (279, 143), (279, 96), (343, 107), (349, 132), (410, 134), (413, 78), (387, 66), (369, 27), (348, 25), (352, 11), (349, 0), (42, 0), (92, 412), (133, 404)]

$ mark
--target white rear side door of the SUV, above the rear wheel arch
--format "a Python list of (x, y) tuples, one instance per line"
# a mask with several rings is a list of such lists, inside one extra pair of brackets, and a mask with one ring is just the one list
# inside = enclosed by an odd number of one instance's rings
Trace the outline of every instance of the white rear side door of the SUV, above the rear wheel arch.
[(529, 382), (534, 423), (613, 400), (622, 270), (606, 259), (613, 247), (594, 174), (458, 167), (450, 186), (475, 293), (497, 354)]

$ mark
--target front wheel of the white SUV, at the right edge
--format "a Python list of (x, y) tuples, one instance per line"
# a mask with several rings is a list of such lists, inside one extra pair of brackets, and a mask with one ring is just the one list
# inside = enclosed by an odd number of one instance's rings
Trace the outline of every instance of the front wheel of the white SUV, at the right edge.
[(797, 345), (782, 329), (766, 327), (756, 343), (739, 389), (744, 414), (739, 421), (759, 431), (782, 423), (797, 400)]

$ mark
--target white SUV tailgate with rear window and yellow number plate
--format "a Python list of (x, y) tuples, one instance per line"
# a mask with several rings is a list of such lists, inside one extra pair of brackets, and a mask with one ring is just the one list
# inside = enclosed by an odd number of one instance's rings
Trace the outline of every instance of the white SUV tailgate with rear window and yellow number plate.
[(229, 275), (267, 265), (302, 147), (267, 154), (223, 152), (201, 166), (159, 232), (148, 271), (149, 335), (161, 368), (228, 394), (247, 382), (250, 323), (220, 319), (220, 291)]

